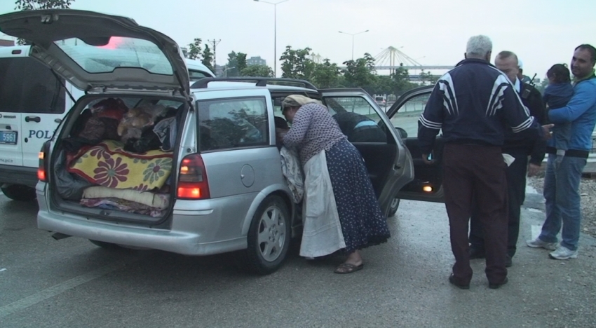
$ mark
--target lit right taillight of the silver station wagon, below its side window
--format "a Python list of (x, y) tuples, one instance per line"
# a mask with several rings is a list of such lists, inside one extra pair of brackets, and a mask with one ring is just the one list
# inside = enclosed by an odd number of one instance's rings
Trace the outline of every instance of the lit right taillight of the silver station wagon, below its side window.
[(205, 163), (198, 153), (184, 157), (178, 173), (178, 199), (210, 198)]

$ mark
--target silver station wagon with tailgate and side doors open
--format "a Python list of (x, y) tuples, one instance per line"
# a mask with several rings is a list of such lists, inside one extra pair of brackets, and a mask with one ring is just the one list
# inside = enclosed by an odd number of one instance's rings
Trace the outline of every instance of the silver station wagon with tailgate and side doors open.
[(0, 30), (27, 40), (30, 57), (85, 92), (39, 153), (37, 223), (56, 239), (238, 252), (243, 268), (276, 271), (302, 226), (275, 134), (279, 104), (292, 94), (321, 100), (336, 117), (377, 123), (386, 138), (353, 144), (387, 217), (399, 199), (442, 201), (440, 137), (433, 165), (422, 163), (416, 144), (432, 87), (385, 113), (359, 88), (319, 90), (287, 78), (191, 82), (175, 41), (130, 18), (24, 11), (0, 15)]

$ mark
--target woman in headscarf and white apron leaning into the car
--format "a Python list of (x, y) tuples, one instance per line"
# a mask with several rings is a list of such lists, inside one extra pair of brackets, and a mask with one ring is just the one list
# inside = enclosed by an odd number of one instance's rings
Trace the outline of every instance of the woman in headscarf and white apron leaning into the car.
[(300, 255), (322, 257), (341, 250), (335, 273), (363, 268), (359, 250), (386, 242), (386, 219), (362, 156), (318, 100), (290, 95), (282, 114), (292, 123), (283, 144), (299, 151), (304, 167), (304, 233)]

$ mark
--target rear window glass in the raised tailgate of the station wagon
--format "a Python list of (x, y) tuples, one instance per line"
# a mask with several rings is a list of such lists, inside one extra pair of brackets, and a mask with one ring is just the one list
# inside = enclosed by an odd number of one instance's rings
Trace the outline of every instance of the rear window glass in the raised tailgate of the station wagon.
[(109, 73), (117, 67), (132, 67), (152, 74), (173, 74), (172, 65), (163, 52), (147, 40), (111, 36), (102, 46), (92, 46), (76, 38), (55, 41), (55, 44), (88, 73)]

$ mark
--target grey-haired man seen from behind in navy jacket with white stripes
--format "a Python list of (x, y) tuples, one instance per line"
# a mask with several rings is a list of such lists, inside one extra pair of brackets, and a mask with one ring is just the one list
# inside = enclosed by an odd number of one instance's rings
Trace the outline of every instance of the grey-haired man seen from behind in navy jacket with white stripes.
[(507, 280), (507, 183), (502, 146), (506, 130), (542, 137), (515, 88), (489, 63), (492, 41), (487, 36), (468, 40), (466, 60), (435, 85), (419, 118), (419, 146), (425, 162), (442, 130), (445, 207), (455, 257), (449, 282), (468, 289), (470, 268), (468, 221), (472, 198), (480, 207), (485, 237), (486, 275), (490, 288)]

